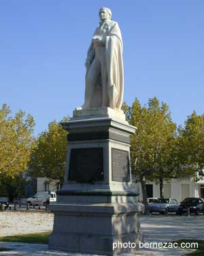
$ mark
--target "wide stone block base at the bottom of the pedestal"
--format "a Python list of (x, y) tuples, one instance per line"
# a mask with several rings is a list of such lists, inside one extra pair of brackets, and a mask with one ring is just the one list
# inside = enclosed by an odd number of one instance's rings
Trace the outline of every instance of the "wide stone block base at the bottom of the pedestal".
[[(140, 203), (55, 203), (49, 248), (74, 253), (117, 255), (130, 251), (120, 243), (142, 240)], [(113, 244), (120, 244), (113, 248)]]

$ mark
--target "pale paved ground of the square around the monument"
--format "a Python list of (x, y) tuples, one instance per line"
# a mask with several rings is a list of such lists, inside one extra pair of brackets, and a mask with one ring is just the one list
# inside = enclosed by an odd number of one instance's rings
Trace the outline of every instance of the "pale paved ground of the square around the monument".
[[(36, 233), (36, 231), (48, 231), (52, 229), (52, 225), (52, 214), (38, 214), (37, 212), (25, 212), (24, 214), (16, 212), (0, 212), (0, 236), (5, 236), (5, 234), (7, 236), (8, 234), (15, 233)], [(141, 229), (146, 242), (167, 242), (178, 239), (204, 240), (204, 216), (141, 216)], [(0, 248), (2, 247), (12, 248), (12, 251), (0, 252), (0, 256), (80, 256), (78, 253), (49, 251), (48, 246), (44, 244), (0, 242)], [(137, 253), (126, 254), (126, 256), (179, 256), (189, 252), (189, 249), (146, 249), (137, 251)], [(83, 254), (83, 256), (89, 255)]]

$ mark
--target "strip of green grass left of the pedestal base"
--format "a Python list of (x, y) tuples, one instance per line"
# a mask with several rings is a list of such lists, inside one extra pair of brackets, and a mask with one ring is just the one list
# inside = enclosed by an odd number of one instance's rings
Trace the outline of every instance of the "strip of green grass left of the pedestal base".
[(51, 231), (44, 233), (29, 233), (19, 236), (3, 236), (0, 242), (24, 242), (29, 244), (48, 244), (48, 237)]

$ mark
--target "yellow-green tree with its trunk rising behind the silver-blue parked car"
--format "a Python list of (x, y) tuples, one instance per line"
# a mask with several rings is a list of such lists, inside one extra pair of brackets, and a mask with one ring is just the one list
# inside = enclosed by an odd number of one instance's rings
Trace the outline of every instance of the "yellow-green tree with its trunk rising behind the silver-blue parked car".
[(163, 181), (170, 180), (178, 173), (179, 165), (175, 161), (176, 125), (172, 122), (169, 107), (164, 102), (159, 105), (156, 98), (148, 102), (149, 120), (151, 122), (152, 138), (152, 177), (160, 186), (160, 197), (163, 198)]

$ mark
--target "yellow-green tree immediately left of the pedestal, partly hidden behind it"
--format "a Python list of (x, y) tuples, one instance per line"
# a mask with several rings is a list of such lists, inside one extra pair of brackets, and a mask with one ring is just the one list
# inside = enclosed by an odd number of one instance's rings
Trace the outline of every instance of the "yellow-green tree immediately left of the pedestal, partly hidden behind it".
[[(68, 121), (64, 118), (63, 122)], [(63, 184), (67, 152), (67, 132), (56, 121), (48, 125), (48, 131), (41, 132), (30, 163), (30, 173), (35, 177), (58, 179)]]

